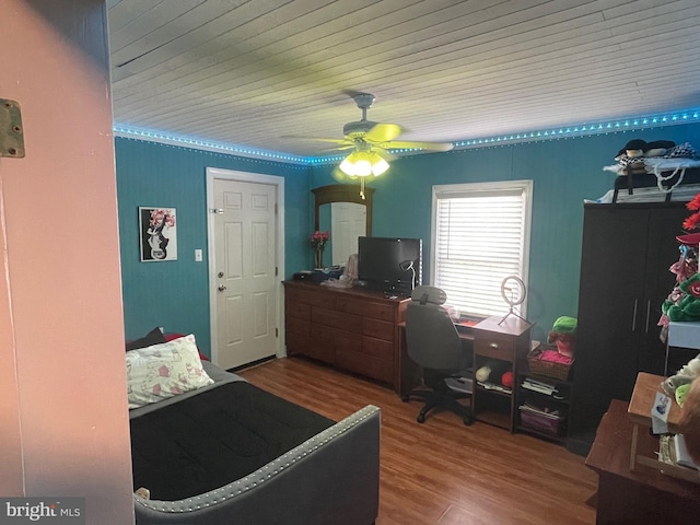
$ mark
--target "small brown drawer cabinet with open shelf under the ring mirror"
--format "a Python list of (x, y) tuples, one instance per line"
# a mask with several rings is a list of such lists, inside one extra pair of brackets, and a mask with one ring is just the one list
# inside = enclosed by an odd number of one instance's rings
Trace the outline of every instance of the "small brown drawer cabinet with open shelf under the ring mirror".
[[(492, 316), (474, 327), (474, 370), (497, 361), (502, 369), (518, 377), (530, 348), (533, 325), (515, 316)], [(513, 385), (514, 387), (516, 385)], [(517, 406), (513, 392), (487, 388), (474, 384), (472, 409), (479, 421), (494, 424), (513, 432)]]

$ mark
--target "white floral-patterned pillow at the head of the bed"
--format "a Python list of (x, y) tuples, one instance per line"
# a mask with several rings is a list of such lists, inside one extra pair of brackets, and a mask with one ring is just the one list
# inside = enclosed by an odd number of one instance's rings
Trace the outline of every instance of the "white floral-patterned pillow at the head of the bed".
[(127, 352), (129, 408), (138, 408), (211, 385), (202, 369), (195, 336)]

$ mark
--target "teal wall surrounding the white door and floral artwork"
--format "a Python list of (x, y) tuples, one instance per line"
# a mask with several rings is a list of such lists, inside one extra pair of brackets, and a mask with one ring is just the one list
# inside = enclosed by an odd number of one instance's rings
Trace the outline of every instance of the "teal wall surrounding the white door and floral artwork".
[[(308, 265), (308, 167), (125, 138), (115, 139), (115, 155), (127, 339), (163, 326), (165, 331), (195, 334), (202, 352), (210, 354), (207, 167), (284, 177), (287, 267)], [(140, 261), (139, 206), (176, 208), (177, 260)], [(201, 262), (195, 262), (196, 248), (203, 252)]]

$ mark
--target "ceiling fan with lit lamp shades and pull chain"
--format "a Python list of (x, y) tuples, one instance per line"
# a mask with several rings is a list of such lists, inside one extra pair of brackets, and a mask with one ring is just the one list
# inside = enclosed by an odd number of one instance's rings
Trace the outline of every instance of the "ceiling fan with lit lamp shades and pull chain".
[(378, 176), (389, 168), (389, 161), (394, 159), (393, 152), (398, 150), (448, 151), (453, 148), (451, 142), (395, 140), (404, 131), (399, 125), (368, 120), (368, 109), (374, 104), (374, 95), (354, 93), (352, 98), (362, 110), (362, 118), (342, 127), (345, 138), (314, 138), (313, 140), (337, 144), (330, 149), (331, 151), (352, 150), (340, 163), (338, 170), (352, 178), (360, 177), (361, 194), (364, 192), (364, 177)]

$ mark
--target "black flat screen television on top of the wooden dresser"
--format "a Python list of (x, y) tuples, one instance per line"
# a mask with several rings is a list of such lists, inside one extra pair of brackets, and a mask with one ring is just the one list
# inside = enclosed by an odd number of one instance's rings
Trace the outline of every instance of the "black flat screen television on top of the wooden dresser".
[(358, 279), (371, 290), (410, 295), (422, 284), (422, 267), (420, 238), (358, 238)]

